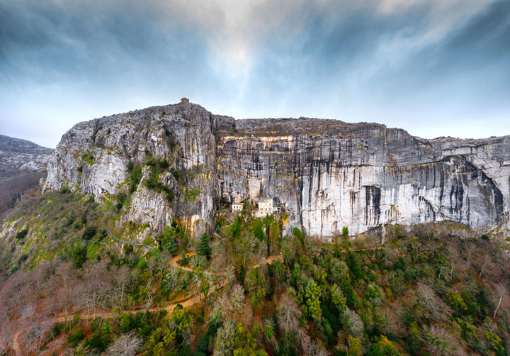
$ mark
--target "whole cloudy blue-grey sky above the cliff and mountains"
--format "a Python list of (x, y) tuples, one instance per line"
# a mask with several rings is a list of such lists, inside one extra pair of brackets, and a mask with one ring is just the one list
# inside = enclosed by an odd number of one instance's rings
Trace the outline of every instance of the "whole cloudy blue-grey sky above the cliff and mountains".
[(510, 135), (509, 0), (0, 0), (0, 133), (182, 96), (235, 118)]

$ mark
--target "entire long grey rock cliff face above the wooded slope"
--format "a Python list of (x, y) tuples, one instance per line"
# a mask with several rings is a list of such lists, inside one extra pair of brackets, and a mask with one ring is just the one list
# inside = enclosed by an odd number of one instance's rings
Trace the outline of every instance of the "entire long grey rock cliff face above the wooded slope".
[[(157, 189), (144, 183), (154, 175), (150, 157), (169, 163)], [(234, 121), (186, 103), (74, 126), (45, 189), (117, 194), (128, 189), (128, 163), (143, 167), (126, 218), (157, 230), (177, 217), (201, 232), (214, 226), (217, 204), (249, 198), (275, 199), (288, 213), (287, 233), (301, 226), (324, 239), (386, 223), (488, 230), (509, 210), (510, 136), (425, 140), (375, 123)]]

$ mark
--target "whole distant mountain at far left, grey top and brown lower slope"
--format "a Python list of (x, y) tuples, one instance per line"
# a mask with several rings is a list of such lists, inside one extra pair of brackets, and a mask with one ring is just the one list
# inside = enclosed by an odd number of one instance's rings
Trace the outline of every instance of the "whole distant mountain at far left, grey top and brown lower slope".
[(53, 154), (28, 140), (0, 135), (0, 218), (21, 197), (46, 176)]

